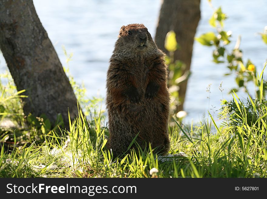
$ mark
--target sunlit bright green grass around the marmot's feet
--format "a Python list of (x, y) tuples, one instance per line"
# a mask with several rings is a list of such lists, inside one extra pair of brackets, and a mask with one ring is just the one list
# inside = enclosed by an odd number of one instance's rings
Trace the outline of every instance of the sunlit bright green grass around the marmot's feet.
[[(244, 121), (242, 126), (218, 128), (211, 116), (211, 122), (200, 123), (191, 130), (177, 123), (170, 134), (170, 153), (183, 156), (170, 156), (163, 162), (151, 148), (112, 157), (105, 147), (105, 128), (100, 127), (100, 117), (88, 124), (79, 114), (70, 125), (69, 138), (53, 133), (46, 136), (42, 147), (34, 147), (33, 143), (30, 147), (15, 148), (10, 154), (5, 154), (2, 148), (0, 175), (151, 177), (150, 169), (157, 168), (153, 177), (266, 177), (266, 106), (256, 121), (258, 125), (248, 125), (242, 114), (245, 113), (242, 102), (237, 104)], [(213, 125), (216, 132), (211, 132)]]

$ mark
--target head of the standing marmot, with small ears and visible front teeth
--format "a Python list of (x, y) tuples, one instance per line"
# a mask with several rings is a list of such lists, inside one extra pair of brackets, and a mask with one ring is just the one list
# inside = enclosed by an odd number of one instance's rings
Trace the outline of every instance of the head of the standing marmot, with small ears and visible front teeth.
[(116, 50), (124, 51), (127, 54), (145, 53), (155, 48), (155, 43), (143, 24), (122, 26), (118, 37)]

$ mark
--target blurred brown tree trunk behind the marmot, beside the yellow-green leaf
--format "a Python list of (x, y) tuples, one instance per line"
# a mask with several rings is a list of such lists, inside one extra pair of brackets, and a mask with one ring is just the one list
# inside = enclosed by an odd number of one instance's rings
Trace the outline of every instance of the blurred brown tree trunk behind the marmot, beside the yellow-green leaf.
[[(181, 60), (185, 64), (182, 74), (190, 70), (194, 36), (200, 20), (200, 0), (163, 0), (156, 31), (157, 46), (166, 54), (164, 41), (167, 32), (173, 30), (180, 49), (174, 52), (174, 60)], [(179, 101), (177, 110), (183, 110), (187, 79), (179, 84)]]

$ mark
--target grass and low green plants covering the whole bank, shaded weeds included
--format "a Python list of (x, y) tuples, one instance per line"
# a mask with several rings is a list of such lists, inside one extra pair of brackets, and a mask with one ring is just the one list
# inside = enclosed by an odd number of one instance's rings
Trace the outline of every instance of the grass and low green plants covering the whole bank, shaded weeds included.
[[(233, 93), (233, 101), (222, 107), (220, 124), (210, 113), (209, 118), (198, 124), (174, 122), (169, 127), (172, 156), (165, 159), (154, 154), (151, 147), (147, 151), (129, 150), (121, 158), (113, 157), (105, 146), (108, 129), (103, 127), (101, 114), (88, 121), (80, 112), (65, 138), (57, 135), (63, 130), (45, 129), (42, 119), (39, 127), (31, 123), (21, 129), (1, 129), (0, 177), (266, 177), (267, 106), (262, 92), (263, 73), (258, 79), (259, 98), (253, 100), (248, 96), (248, 101), (242, 102)], [(3, 93), (5, 99), (12, 95)], [(17, 97), (2, 102), (3, 107), (19, 108), (19, 104)], [(9, 111), (5, 117), (25, 119), (18, 116), (21, 107), (18, 110)], [(6, 144), (10, 139), (11, 144)], [(152, 168), (158, 172), (151, 175)]]

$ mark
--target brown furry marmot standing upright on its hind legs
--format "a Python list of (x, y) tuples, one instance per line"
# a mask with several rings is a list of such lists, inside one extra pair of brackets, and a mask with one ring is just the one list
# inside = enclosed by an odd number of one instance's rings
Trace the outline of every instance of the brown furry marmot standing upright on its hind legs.
[[(107, 71), (106, 108), (113, 156), (127, 151), (133, 138), (166, 154), (170, 95), (165, 54), (143, 24), (122, 26)], [(134, 144), (133, 144), (134, 146)]]

